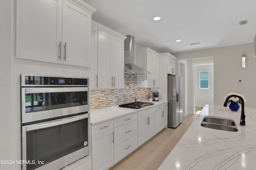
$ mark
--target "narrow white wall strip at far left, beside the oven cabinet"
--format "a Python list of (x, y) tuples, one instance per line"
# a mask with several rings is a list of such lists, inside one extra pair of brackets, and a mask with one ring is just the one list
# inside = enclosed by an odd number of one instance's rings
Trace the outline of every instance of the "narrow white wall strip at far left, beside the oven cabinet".
[[(11, 89), (11, 34), (12, 34), (12, 1), (1, 1), (0, 5), (0, 160), (13, 160), (16, 148), (13, 148), (12, 141), (16, 135), (12, 127), (17, 127), (20, 124), (12, 122), (12, 107), (19, 107), (20, 104), (12, 104), (12, 89)], [(16, 128), (18, 129), (18, 128)], [(15, 165), (14, 165), (15, 166)], [(0, 164), (0, 169), (15, 169), (14, 166)]]

